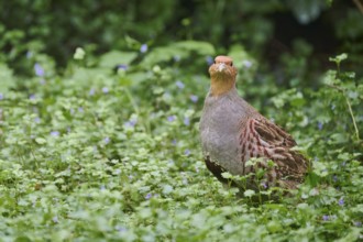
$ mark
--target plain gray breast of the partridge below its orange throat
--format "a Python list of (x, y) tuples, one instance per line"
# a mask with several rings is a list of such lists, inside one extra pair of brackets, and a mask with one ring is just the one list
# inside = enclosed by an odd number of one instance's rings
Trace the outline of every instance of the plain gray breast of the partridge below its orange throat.
[[(204, 154), (231, 174), (242, 173), (240, 129), (246, 113), (233, 96), (207, 97), (200, 120)], [(237, 96), (238, 97), (238, 96)]]

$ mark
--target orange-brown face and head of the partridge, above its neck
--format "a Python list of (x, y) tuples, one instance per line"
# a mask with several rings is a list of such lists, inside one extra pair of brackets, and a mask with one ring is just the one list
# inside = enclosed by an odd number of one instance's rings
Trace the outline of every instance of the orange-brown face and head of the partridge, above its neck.
[(213, 79), (234, 79), (237, 76), (237, 68), (233, 66), (233, 59), (229, 56), (217, 56), (215, 63), (209, 67), (209, 74)]

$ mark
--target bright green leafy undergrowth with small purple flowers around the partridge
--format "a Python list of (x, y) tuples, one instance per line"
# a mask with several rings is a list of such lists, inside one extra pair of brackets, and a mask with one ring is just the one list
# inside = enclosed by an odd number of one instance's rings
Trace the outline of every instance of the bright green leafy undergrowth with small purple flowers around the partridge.
[(338, 70), (320, 88), (284, 90), (268, 77), (254, 81), (256, 63), (242, 48), (230, 53), (241, 94), (292, 132), (314, 165), (293, 196), (255, 202), (201, 160), (209, 84), (200, 70), (213, 52), (185, 42), (133, 62), (136, 53), (96, 59), (78, 50), (62, 75), (44, 56), (30, 59), (32, 78), (1, 65), (0, 240), (362, 239), (363, 86), (341, 73), (345, 56), (332, 59)]

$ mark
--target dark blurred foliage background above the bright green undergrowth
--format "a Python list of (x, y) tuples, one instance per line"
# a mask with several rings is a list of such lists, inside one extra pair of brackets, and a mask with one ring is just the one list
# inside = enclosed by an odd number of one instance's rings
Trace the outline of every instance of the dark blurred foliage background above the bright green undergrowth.
[[(241, 44), (271, 69), (286, 55), (309, 56), (312, 69), (349, 53), (363, 64), (359, 0), (12, 0), (1, 1), (0, 61), (22, 74), (24, 59), (46, 53), (62, 69), (82, 46), (88, 53), (148, 50), (179, 40), (211, 43), (218, 53)], [(145, 45), (144, 45), (145, 46)], [(282, 65), (280, 65), (282, 64)]]

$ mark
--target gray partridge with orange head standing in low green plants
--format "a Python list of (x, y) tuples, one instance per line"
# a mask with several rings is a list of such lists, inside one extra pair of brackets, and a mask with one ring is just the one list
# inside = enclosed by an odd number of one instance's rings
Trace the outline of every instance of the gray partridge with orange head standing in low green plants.
[[(265, 188), (296, 188), (308, 169), (307, 160), (292, 150), (296, 142), (286, 131), (239, 97), (237, 73), (232, 58), (228, 56), (217, 56), (209, 67), (211, 86), (200, 120), (200, 139), (208, 169), (220, 182), (228, 183), (221, 175), (223, 172), (243, 176), (265, 168)], [(246, 164), (252, 157), (261, 157), (258, 161), (262, 162)], [(273, 166), (268, 161), (273, 161)], [(261, 185), (249, 182), (244, 188), (256, 190)]]

